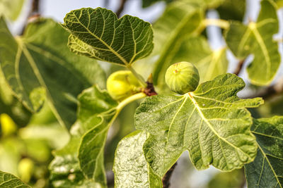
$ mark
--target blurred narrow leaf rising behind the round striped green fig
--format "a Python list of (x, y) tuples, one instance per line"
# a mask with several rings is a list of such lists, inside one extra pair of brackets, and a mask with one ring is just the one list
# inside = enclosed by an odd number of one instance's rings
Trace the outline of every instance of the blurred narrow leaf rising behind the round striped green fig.
[(203, 17), (204, 11), (197, 4), (175, 1), (154, 23), (153, 55), (158, 54), (153, 70), (155, 84), (164, 82), (166, 69), (172, 64), (172, 58), (178, 51), (180, 42), (197, 30)]

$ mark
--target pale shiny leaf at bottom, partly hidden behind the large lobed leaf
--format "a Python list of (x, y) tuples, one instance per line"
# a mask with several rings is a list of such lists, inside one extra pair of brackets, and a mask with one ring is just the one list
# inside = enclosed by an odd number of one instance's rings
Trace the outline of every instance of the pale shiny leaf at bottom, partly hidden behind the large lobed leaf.
[(119, 142), (113, 166), (115, 187), (162, 187), (161, 178), (152, 172), (144, 157), (146, 137), (146, 132), (135, 131)]

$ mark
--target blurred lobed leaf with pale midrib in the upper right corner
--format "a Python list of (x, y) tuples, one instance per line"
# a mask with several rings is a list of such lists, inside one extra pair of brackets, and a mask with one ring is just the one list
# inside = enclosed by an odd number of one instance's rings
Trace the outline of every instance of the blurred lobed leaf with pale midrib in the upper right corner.
[(247, 68), (253, 84), (269, 84), (281, 61), (278, 44), (272, 36), (278, 32), (276, 6), (272, 1), (261, 1), (260, 15), (256, 23), (248, 25), (234, 22), (226, 34), (226, 42), (236, 57), (244, 59), (253, 54), (253, 62)]

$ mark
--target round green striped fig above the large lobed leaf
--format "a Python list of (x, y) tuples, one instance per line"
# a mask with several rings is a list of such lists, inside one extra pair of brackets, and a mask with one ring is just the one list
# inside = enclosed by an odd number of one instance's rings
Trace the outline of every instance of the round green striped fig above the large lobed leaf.
[(195, 65), (182, 61), (171, 65), (165, 74), (165, 82), (173, 92), (185, 94), (195, 91), (200, 75)]

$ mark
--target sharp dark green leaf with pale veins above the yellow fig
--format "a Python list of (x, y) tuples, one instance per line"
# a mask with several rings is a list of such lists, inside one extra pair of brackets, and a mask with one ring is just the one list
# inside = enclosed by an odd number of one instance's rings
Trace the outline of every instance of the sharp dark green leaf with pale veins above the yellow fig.
[(150, 23), (130, 15), (118, 19), (106, 8), (71, 11), (63, 27), (71, 32), (71, 51), (101, 61), (127, 66), (148, 56), (154, 47)]

